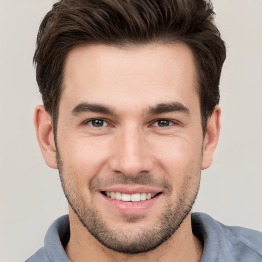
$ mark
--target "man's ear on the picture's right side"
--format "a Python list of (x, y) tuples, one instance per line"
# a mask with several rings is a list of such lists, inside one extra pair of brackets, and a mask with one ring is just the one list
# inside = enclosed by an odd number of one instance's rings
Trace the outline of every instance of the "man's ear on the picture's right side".
[(208, 168), (213, 161), (213, 153), (219, 141), (221, 109), (217, 105), (207, 120), (207, 130), (203, 143), (202, 169)]

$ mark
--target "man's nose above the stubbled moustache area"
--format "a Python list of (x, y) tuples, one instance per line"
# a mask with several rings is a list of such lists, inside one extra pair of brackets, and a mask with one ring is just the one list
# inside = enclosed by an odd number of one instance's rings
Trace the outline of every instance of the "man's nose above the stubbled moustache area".
[(140, 172), (150, 172), (154, 161), (150, 143), (139, 128), (125, 128), (114, 139), (110, 167), (126, 177), (135, 177)]

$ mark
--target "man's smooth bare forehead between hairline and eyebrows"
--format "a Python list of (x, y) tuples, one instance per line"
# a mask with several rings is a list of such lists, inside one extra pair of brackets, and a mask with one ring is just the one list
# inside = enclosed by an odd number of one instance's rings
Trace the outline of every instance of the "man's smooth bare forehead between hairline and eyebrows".
[(71, 107), (121, 102), (133, 108), (170, 100), (190, 103), (199, 100), (195, 76), (193, 54), (184, 45), (82, 46), (65, 61), (60, 102)]

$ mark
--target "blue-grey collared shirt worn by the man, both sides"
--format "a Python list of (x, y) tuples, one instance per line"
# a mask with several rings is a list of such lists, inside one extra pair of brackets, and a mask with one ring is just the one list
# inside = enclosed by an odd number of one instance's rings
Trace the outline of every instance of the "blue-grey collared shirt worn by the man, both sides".
[[(192, 213), (192, 230), (204, 244), (200, 262), (261, 262), (262, 233), (229, 227), (205, 213)], [(70, 238), (69, 216), (59, 217), (48, 229), (44, 246), (26, 262), (70, 262), (64, 252)]]

